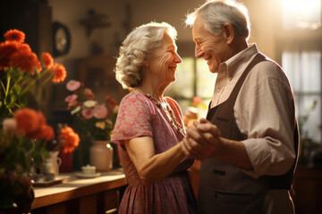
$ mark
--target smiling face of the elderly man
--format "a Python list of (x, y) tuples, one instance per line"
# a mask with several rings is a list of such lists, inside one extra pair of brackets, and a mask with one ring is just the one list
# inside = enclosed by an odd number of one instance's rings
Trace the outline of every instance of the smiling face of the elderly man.
[(192, 37), (196, 44), (196, 58), (202, 57), (207, 61), (210, 72), (217, 73), (219, 65), (229, 59), (229, 46), (225, 33), (221, 33), (219, 36), (209, 33), (198, 16), (192, 26)]

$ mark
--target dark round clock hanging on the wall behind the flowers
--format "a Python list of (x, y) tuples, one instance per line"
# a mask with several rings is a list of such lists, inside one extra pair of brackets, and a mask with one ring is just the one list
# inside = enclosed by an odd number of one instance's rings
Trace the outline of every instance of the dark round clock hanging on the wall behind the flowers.
[(53, 56), (61, 56), (71, 49), (71, 33), (67, 26), (59, 21), (53, 22)]

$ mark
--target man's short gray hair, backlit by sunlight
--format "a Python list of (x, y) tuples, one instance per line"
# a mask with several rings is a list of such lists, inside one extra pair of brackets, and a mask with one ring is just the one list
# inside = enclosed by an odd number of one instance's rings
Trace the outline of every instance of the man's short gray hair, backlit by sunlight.
[(230, 23), (237, 37), (250, 37), (250, 16), (243, 4), (232, 0), (208, 1), (187, 14), (186, 25), (193, 25), (197, 16), (202, 19), (205, 29), (215, 36), (222, 33), (225, 23)]

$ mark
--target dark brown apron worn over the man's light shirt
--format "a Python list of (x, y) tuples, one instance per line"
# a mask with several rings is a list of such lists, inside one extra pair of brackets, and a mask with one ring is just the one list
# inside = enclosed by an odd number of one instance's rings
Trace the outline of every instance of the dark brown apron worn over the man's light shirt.
[[(247, 139), (236, 124), (233, 106), (242, 84), (250, 70), (258, 63), (267, 61), (258, 54), (244, 70), (229, 98), (216, 107), (208, 110), (207, 119), (219, 128), (221, 136), (227, 139), (242, 141)], [(209, 105), (210, 106), (210, 105)], [(295, 152), (298, 152), (298, 128), (294, 130)], [(282, 176), (250, 177), (238, 166), (213, 158), (201, 163), (198, 193), (198, 213), (261, 213), (264, 197), (268, 189), (291, 189), (292, 168)]]

